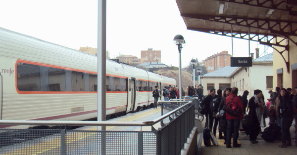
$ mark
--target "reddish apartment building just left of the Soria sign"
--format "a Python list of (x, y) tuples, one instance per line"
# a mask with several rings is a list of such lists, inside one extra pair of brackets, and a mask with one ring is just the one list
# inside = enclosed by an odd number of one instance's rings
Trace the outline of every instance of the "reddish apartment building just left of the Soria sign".
[(203, 63), (206, 67), (207, 73), (210, 73), (225, 66), (230, 66), (230, 59), (231, 55), (228, 53), (228, 51), (222, 51), (206, 58)]

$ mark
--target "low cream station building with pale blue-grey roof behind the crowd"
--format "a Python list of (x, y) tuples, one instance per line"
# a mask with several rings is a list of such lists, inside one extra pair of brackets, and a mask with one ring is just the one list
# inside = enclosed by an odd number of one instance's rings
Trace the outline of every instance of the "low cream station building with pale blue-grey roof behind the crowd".
[(264, 98), (270, 98), (269, 90), (273, 89), (273, 53), (252, 60), (252, 67), (224, 67), (203, 76), (203, 94), (212, 88), (224, 90), (227, 87), (238, 87), (238, 95), (245, 90), (249, 97), (253, 90), (260, 89)]

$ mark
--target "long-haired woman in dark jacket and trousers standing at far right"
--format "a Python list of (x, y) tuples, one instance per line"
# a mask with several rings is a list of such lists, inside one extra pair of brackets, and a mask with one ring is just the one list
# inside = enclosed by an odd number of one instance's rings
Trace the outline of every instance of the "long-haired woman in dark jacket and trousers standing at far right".
[(281, 117), (282, 128), (282, 144), (279, 147), (286, 148), (292, 146), (290, 127), (293, 122), (293, 105), (285, 88), (281, 89), (278, 98), (278, 113)]

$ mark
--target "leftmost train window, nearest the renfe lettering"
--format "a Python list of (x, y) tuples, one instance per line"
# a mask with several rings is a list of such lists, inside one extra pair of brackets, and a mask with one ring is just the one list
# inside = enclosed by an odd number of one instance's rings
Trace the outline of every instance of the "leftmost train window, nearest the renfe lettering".
[(40, 68), (37, 65), (17, 64), (17, 88), (19, 91), (39, 91)]

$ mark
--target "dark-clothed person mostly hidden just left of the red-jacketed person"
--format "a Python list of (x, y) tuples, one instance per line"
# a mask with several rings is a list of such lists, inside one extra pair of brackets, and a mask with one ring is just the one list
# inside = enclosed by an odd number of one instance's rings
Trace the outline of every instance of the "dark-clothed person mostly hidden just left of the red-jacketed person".
[[(221, 99), (221, 103), (218, 109), (218, 113), (216, 116), (220, 115), (220, 111), (223, 110), (223, 107), (226, 103), (226, 97), (230, 95), (231, 92), (231, 88), (226, 88), (223, 92), (223, 97)], [(221, 130), (222, 132), (224, 132), (224, 136), (219, 136), (219, 139), (224, 139), (225, 142), (224, 144), (226, 144), (226, 136), (227, 136), (227, 119), (226, 119), (226, 115), (220, 116), (220, 121), (219, 121), (219, 130)]]

